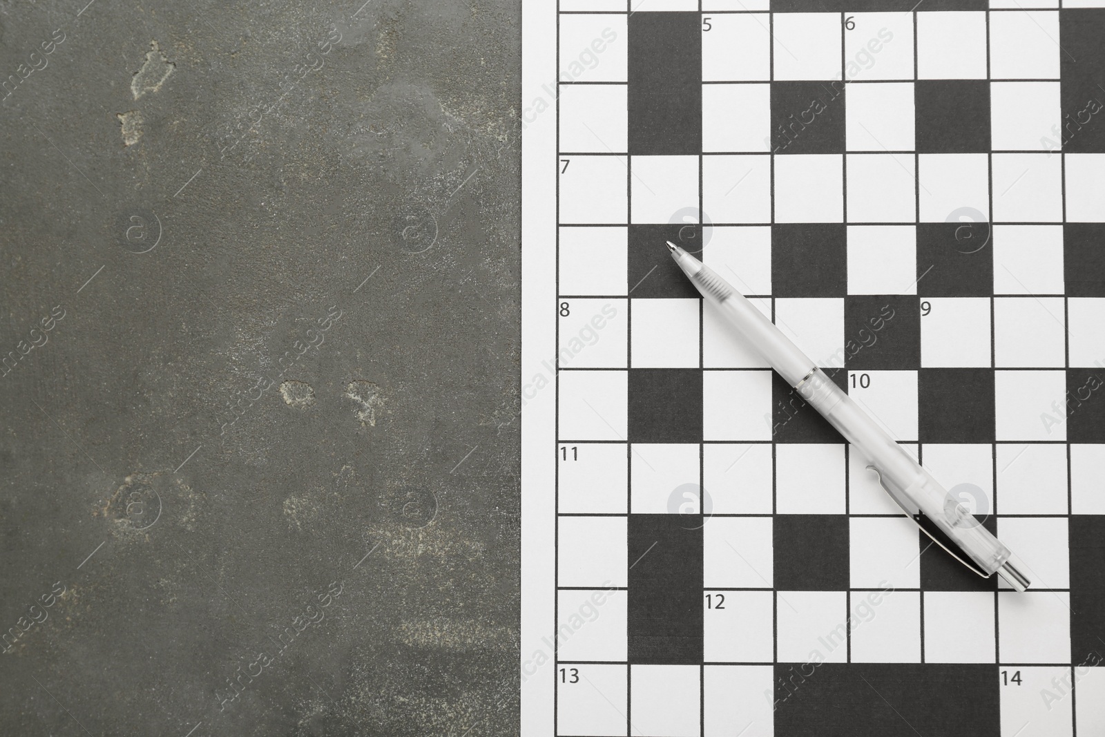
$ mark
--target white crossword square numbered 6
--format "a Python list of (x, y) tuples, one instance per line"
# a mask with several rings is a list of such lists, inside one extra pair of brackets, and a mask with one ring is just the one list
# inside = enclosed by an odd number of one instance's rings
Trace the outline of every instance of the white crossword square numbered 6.
[[(913, 78), (913, 13), (848, 15), (855, 28), (844, 33), (845, 78)], [(778, 64), (778, 56), (776, 63)]]

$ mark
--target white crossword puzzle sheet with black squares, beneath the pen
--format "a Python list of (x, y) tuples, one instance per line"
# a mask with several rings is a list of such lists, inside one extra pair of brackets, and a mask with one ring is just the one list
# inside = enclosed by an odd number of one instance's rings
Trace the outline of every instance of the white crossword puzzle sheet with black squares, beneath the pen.
[(523, 54), (523, 735), (1105, 735), (1105, 0), (527, 0)]

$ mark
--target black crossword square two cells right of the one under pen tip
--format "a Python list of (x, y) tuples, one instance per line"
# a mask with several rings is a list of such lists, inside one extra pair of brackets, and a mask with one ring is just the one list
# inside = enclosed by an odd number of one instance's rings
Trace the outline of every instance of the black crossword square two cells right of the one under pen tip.
[(771, 293), (777, 297), (844, 296), (848, 293), (846, 225), (771, 225)]

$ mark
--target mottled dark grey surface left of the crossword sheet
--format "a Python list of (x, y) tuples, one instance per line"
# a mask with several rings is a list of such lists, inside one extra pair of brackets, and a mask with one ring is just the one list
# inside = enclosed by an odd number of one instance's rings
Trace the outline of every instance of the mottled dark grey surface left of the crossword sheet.
[(517, 731), (520, 7), (362, 1), (0, 1), (0, 734)]

